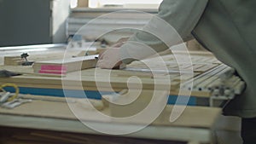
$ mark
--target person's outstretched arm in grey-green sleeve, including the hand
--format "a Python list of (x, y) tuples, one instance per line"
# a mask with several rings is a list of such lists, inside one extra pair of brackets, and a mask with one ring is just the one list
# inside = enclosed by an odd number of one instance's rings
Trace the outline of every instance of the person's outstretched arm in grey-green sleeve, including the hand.
[[(164, 0), (160, 4), (159, 14), (149, 21), (143, 31), (137, 32), (120, 48), (106, 51), (98, 66), (111, 68), (109, 66), (118, 64), (118, 60), (129, 64), (132, 60), (142, 60), (182, 43), (181, 39), (189, 40), (206, 6), (207, 0)], [(172, 27), (181, 38), (177, 37)]]

